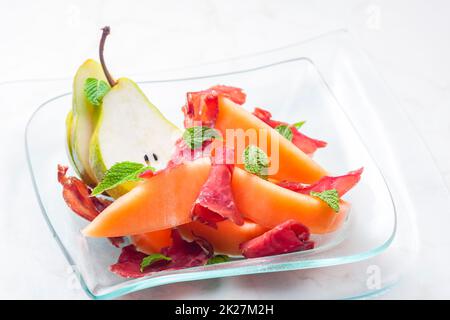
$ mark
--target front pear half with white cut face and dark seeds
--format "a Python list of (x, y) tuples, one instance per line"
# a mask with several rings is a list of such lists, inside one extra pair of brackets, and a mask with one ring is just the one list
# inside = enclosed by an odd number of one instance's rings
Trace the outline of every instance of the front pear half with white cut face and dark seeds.
[[(95, 131), (91, 138), (89, 162), (98, 181), (117, 162), (144, 162), (164, 168), (181, 131), (147, 99), (138, 85), (120, 78), (103, 97)], [(108, 194), (118, 198), (135, 183), (124, 183)]]

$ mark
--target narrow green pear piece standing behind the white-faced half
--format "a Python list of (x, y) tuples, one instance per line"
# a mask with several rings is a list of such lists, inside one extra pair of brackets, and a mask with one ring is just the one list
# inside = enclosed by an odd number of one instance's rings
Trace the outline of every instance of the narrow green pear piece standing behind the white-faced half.
[(75, 171), (86, 184), (94, 187), (98, 180), (89, 165), (89, 147), (100, 110), (86, 99), (84, 85), (88, 78), (106, 81), (102, 66), (91, 59), (78, 68), (74, 77), (72, 111), (66, 119), (66, 128), (69, 158)]

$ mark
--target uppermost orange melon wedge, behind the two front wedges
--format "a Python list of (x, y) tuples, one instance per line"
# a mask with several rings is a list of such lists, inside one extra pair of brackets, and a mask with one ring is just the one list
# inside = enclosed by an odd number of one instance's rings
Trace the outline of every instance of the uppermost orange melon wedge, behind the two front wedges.
[[(242, 106), (227, 98), (219, 97), (219, 114), (215, 127), (222, 132), (228, 146), (231, 144), (231, 147), (235, 150), (236, 163), (241, 168), (243, 167), (242, 154), (245, 147), (249, 144), (257, 143), (257, 146), (271, 157), (271, 165), (274, 165), (275, 162), (279, 164), (278, 170), (273, 174), (269, 174), (272, 179), (314, 183), (327, 174), (319, 164), (298, 149), (292, 142), (282, 137), (276, 130)], [(230, 131), (228, 130), (227, 132), (227, 129), (234, 130), (231, 131), (234, 134), (229, 135), (228, 139), (227, 134)], [(255, 134), (257, 141), (252, 143), (252, 139), (245, 138), (247, 130)], [(247, 133), (250, 131), (247, 131)], [(234, 141), (230, 142), (231, 139)], [(279, 143), (278, 156), (271, 150), (272, 144), (274, 150), (276, 150), (276, 141)]]

